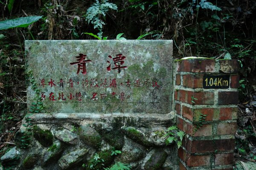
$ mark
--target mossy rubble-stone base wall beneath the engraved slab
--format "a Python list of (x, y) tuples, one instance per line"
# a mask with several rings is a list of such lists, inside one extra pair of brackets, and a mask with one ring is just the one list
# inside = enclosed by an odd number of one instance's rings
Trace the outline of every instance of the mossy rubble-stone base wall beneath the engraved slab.
[(15, 170), (102, 170), (116, 162), (132, 170), (177, 170), (176, 144), (166, 145), (164, 136), (174, 120), (173, 113), (34, 114), (23, 120), (33, 127), (29, 146), (22, 149), (23, 126), (1, 161), (5, 167), (16, 163)]

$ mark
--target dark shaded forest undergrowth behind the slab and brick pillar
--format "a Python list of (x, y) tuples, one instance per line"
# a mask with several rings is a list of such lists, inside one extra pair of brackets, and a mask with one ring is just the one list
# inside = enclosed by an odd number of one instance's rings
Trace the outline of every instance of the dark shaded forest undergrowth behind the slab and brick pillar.
[[(14, 146), (26, 115), (24, 40), (174, 40), (174, 57), (232, 58), (240, 61), (239, 130), (236, 158), (256, 156), (256, 1), (255, 0), (101, 0), (113, 3), (87, 13), (96, 1), (0, 0), (0, 20), (42, 15), (28, 28), (0, 31), (0, 156)], [(102, 24), (102, 28), (100, 24)], [(105, 23), (105, 24), (104, 24)], [(99, 32), (102, 31), (102, 35)], [(46, 61), (47, 62), (47, 61)]]

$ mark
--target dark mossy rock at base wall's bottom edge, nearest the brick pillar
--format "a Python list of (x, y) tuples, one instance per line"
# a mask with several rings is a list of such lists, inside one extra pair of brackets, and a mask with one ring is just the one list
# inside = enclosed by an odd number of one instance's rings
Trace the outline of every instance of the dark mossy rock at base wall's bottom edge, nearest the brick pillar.
[(163, 164), (166, 161), (168, 154), (161, 149), (154, 150), (154, 153), (145, 163), (145, 170), (162, 170)]

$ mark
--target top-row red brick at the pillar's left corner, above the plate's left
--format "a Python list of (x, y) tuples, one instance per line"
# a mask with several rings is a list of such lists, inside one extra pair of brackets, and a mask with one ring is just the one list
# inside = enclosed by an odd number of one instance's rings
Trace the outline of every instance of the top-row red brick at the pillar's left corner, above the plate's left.
[(178, 72), (215, 72), (215, 60), (186, 59), (177, 63)]

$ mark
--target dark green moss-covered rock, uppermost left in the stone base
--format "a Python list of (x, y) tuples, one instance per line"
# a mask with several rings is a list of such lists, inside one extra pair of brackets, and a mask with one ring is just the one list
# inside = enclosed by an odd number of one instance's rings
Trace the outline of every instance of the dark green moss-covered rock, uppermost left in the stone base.
[(53, 143), (53, 135), (50, 130), (42, 130), (38, 126), (33, 127), (34, 138), (44, 147), (49, 147)]

